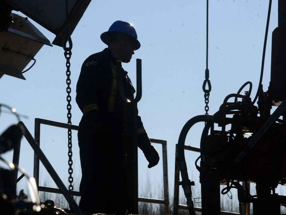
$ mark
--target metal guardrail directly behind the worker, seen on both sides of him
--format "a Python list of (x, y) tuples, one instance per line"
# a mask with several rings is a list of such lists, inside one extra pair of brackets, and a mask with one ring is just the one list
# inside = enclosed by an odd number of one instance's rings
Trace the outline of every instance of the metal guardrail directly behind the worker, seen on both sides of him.
[[(51, 120), (45, 120), (40, 118), (35, 118), (35, 140), (40, 146), (40, 125), (45, 124), (49, 126), (55, 126), (59, 128), (66, 128), (72, 130), (78, 130), (78, 126), (65, 124), (61, 122), (55, 122)], [(164, 199), (150, 199), (150, 198), (141, 198), (138, 197), (138, 202), (146, 202), (146, 203), (155, 203), (155, 204), (164, 204), (164, 213), (170, 214), (170, 201), (169, 201), (169, 187), (168, 187), (168, 160), (167, 160), (167, 141), (152, 139), (150, 138), (150, 142), (162, 144), (162, 163), (163, 163), (163, 183), (164, 183)], [(52, 187), (44, 187), (39, 186), (39, 157), (36, 153), (34, 153), (34, 177), (36, 179), (38, 190), (43, 192), (50, 193), (62, 193), (60, 189), (52, 188)], [(79, 191), (69, 191), (69, 193), (73, 196), (80, 196)]]

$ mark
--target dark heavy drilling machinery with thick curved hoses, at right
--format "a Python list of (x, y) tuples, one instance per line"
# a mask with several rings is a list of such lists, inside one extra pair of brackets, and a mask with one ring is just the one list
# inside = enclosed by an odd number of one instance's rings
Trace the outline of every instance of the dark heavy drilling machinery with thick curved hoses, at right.
[[(268, 91), (263, 92), (260, 81), (259, 90), (252, 101), (252, 83), (247, 82), (238, 93), (225, 98), (217, 113), (195, 116), (183, 127), (178, 141), (178, 159), (181, 184), (190, 214), (195, 214), (190, 189), (194, 183), (188, 179), (184, 142), (187, 132), (197, 122), (206, 122), (200, 143), (200, 166), (196, 164), (200, 171), (202, 215), (221, 214), (220, 185), (227, 185), (221, 191), (223, 194), (236, 188), (240, 205), (253, 203), (255, 215), (280, 214), (280, 205), (286, 205), (286, 196), (275, 193), (278, 184), (286, 185), (285, 38), (286, 1), (279, 0), (278, 27), (272, 36), (271, 80)], [(249, 91), (241, 95), (240, 91), (247, 85), (250, 85)], [(257, 97), (258, 107), (254, 105)], [(234, 101), (229, 101), (231, 98)], [(273, 106), (278, 107), (271, 114)], [(215, 124), (221, 130), (215, 130)], [(256, 183), (257, 195), (252, 196), (239, 182)]]

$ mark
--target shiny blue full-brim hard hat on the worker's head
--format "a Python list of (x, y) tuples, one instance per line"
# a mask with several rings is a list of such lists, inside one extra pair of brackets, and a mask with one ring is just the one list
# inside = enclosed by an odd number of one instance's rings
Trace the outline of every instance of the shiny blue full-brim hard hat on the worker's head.
[(134, 50), (137, 50), (140, 48), (140, 42), (137, 40), (137, 34), (135, 31), (135, 28), (132, 24), (125, 22), (125, 21), (115, 21), (107, 32), (104, 32), (100, 35), (100, 39), (102, 42), (104, 42), (106, 45), (110, 42), (110, 34), (112, 32), (120, 32), (123, 34), (127, 34), (130, 36), (130, 38), (134, 41)]

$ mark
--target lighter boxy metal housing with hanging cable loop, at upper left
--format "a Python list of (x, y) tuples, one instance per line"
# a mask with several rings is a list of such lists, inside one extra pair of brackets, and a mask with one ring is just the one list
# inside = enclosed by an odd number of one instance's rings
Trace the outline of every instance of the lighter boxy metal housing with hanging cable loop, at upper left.
[(52, 46), (26, 17), (11, 13), (13, 22), (6, 30), (0, 32), (0, 77), (4, 74), (25, 79), (23, 69), (34, 60), (42, 46)]

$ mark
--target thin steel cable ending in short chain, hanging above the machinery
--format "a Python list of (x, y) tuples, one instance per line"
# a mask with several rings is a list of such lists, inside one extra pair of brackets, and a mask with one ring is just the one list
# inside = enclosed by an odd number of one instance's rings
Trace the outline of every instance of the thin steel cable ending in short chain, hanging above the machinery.
[(204, 103), (206, 104), (204, 106), (206, 115), (208, 115), (208, 111), (209, 111), (208, 103), (209, 103), (210, 91), (212, 89), (209, 76), (210, 75), (209, 75), (209, 70), (208, 70), (208, 0), (206, 0), (206, 70), (205, 70), (205, 80), (204, 80), (204, 83), (202, 84), (202, 90), (204, 91)]

